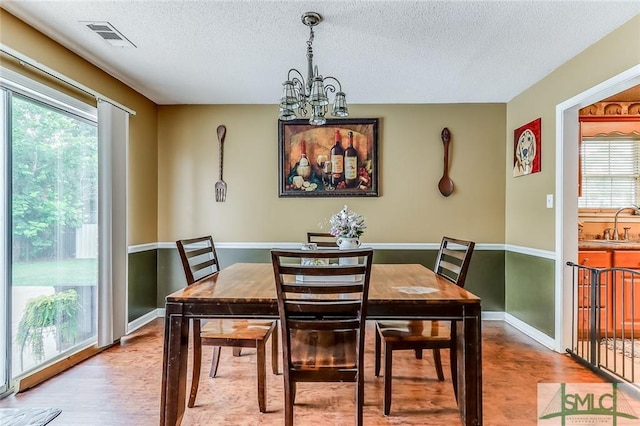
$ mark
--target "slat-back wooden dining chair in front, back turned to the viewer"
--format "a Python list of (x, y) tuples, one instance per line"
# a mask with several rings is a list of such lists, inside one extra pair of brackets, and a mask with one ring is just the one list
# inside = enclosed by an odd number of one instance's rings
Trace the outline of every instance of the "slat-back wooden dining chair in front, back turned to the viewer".
[[(324, 259), (342, 257), (358, 257), (359, 263), (318, 266)], [(302, 258), (314, 262), (302, 265)], [(293, 425), (300, 382), (355, 382), (356, 424), (362, 425), (373, 250), (272, 250), (271, 260), (282, 328), (285, 425)]]

